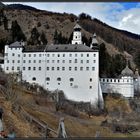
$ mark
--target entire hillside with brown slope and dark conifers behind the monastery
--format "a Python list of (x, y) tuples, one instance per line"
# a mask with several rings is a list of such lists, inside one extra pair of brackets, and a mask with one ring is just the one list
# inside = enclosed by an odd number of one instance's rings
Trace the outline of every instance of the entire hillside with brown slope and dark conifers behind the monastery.
[(28, 46), (41, 44), (69, 44), (73, 27), (82, 27), (82, 40), (90, 46), (93, 33), (100, 47), (100, 76), (117, 77), (130, 60), (130, 67), (140, 68), (140, 36), (108, 26), (98, 19), (82, 13), (73, 14), (42, 11), (25, 5), (1, 6), (0, 50), (6, 43), (24, 40)]

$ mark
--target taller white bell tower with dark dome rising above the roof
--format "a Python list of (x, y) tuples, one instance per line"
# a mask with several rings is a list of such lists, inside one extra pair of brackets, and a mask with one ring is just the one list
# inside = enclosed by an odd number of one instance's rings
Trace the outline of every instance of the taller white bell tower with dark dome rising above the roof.
[(82, 44), (81, 27), (79, 24), (74, 26), (72, 44)]

